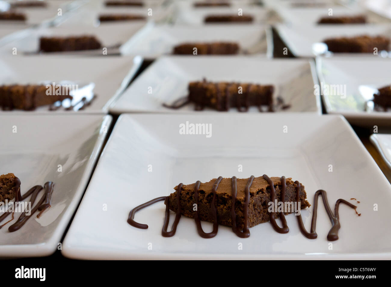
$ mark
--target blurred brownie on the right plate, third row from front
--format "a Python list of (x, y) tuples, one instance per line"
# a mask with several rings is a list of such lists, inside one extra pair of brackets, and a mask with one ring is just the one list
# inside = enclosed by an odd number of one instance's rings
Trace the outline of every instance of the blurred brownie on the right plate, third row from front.
[(373, 53), (373, 48), (378, 51), (389, 50), (390, 40), (384, 36), (357, 36), (331, 38), (323, 41), (328, 50), (334, 53)]

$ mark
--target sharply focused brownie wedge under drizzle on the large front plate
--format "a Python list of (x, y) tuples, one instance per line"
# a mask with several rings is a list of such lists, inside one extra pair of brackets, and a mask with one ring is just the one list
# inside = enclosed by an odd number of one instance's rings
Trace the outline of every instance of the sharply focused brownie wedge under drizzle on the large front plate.
[[(280, 201), (281, 194), (281, 178), (271, 177), (273, 181), (277, 201)], [(197, 210), (199, 218), (204, 221), (213, 222), (213, 216), (210, 212), (212, 198), (213, 198), (213, 185), (216, 182), (216, 178), (210, 182), (201, 183), (198, 191), (198, 205)], [(244, 200), (245, 200), (245, 187), (248, 183), (248, 178), (237, 179), (237, 196), (235, 201), (235, 212), (237, 216), (237, 226), (242, 229), (244, 226)], [(181, 214), (194, 218), (195, 212), (193, 211), (195, 204), (194, 197), (195, 184), (183, 185), (180, 194), (180, 210)], [(177, 192), (178, 186), (174, 187), (175, 192), (171, 193), (168, 199), (169, 209), (176, 212), (177, 205)], [(268, 211), (268, 203), (271, 201), (270, 186), (263, 176), (256, 177), (249, 189), (249, 209), (248, 209), (248, 225), (253, 227), (260, 223), (264, 223), (270, 220), (270, 213)], [(304, 185), (300, 184), (300, 208), (304, 209), (309, 207), (310, 204), (306, 200), (307, 193), (305, 192)], [(291, 178), (286, 178), (286, 191), (285, 202), (296, 201), (296, 184)], [(217, 206), (217, 220), (219, 224), (232, 226), (231, 208), (232, 208), (232, 180), (231, 178), (223, 178), (216, 190), (216, 206)], [(276, 213), (278, 216), (278, 213)]]

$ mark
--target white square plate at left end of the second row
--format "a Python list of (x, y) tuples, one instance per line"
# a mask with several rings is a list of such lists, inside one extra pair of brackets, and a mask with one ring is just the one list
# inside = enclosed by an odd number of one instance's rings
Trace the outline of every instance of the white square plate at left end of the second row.
[[(110, 103), (127, 87), (140, 67), (140, 57), (71, 57), (59, 55), (2, 57), (0, 85), (4, 84), (73, 84), (77, 93), (73, 102), (87, 94), (94, 94), (90, 105), (77, 112), (107, 113)], [(39, 67), (39, 68), (37, 68)], [(76, 87), (76, 86), (75, 86)], [(83, 87), (84, 91), (83, 92)], [(73, 103), (74, 104), (74, 103)], [(77, 107), (76, 107), (77, 108)], [(28, 114), (72, 113), (64, 108), (50, 111), (48, 106), (34, 111), (2, 111), (0, 114), (24, 112)], [(76, 110), (75, 110), (76, 112)]]

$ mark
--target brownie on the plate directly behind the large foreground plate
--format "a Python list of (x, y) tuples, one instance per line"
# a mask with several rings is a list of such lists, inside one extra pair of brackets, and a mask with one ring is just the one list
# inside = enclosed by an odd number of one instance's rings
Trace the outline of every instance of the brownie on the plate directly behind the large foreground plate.
[(272, 85), (213, 83), (205, 80), (190, 82), (188, 89), (190, 102), (218, 111), (227, 111), (230, 107), (271, 106), (273, 104), (274, 87)]

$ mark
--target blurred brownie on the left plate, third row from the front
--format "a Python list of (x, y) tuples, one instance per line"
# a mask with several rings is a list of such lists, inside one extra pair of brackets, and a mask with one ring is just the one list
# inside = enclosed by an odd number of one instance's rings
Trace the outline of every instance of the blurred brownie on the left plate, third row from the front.
[(95, 50), (101, 46), (94, 36), (41, 37), (39, 39), (39, 50), (43, 52)]

